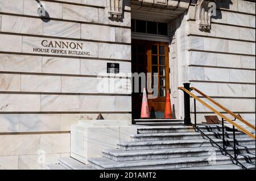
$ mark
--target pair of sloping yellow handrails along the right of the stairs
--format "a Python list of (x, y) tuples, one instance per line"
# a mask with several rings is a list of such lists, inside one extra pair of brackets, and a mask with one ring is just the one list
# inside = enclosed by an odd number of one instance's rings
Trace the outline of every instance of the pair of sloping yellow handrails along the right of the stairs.
[[(241, 125), (234, 123), (234, 121), (232, 121), (231, 119), (229, 119), (227, 116), (225, 116), (224, 114), (220, 113), (219, 111), (217, 111), (215, 108), (213, 108), (212, 106), (210, 106), (209, 104), (207, 104), (206, 102), (204, 102), (202, 99), (200, 99), (198, 96), (196, 96), (195, 94), (193, 94), (191, 91), (185, 89), (184, 87), (178, 87), (178, 89), (186, 92), (188, 95), (192, 96), (192, 98), (196, 99), (198, 102), (200, 102), (201, 104), (203, 104), (205, 107), (207, 107), (209, 110), (213, 111), (214, 113), (216, 113), (216, 115), (222, 117), (222, 119), (228, 121), (230, 124), (232, 124), (234, 127), (236, 127), (237, 129), (239, 129), (240, 131), (242, 131), (243, 133), (247, 134), (248, 136), (250, 136), (251, 138), (253, 138), (255, 140), (255, 135), (249, 131), (247, 131), (245, 128), (242, 128)], [(235, 117), (236, 119), (240, 120), (242, 123), (246, 124), (247, 126), (249, 126), (250, 128), (253, 128), (255, 130), (255, 126), (248, 123), (246, 120), (242, 119), (241, 117), (237, 116), (234, 112), (228, 110), (228, 108), (225, 108), (224, 106), (222, 106), (220, 103), (217, 103), (215, 100), (213, 100), (212, 98), (210, 98), (209, 96), (207, 96), (206, 94), (204, 94), (203, 92), (199, 91), (198, 89), (196, 89), (195, 87), (192, 87), (191, 90), (195, 90), (196, 92), (198, 92), (200, 95), (202, 95), (203, 97), (207, 98), (210, 102), (212, 102), (213, 104), (215, 104), (216, 106), (222, 108), (222, 110), (226, 111), (227, 113), (229, 113), (229, 115), (232, 115), (233, 117)]]

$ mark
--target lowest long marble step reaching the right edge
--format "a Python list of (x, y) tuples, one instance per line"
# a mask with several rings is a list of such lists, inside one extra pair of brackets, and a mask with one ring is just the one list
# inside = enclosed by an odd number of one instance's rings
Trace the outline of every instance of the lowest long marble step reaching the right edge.
[[(255, 162), (255, 155), (243, 154), (238, 155), (238, 160), (242, 163)], [(89, 158), (89, 165), (97, 169), (179, 169), (184, 167), (210, 166), (209, 155), (206, 157), (183, 157), (183, 158), (167, 158), (167, 159), (148, 159), (139, 161), (123, 161), (117, 162), (112, 159)], [(214, 165), (232, 164), (234, 161), (225, 155), (216, 155), (216, 163)]]

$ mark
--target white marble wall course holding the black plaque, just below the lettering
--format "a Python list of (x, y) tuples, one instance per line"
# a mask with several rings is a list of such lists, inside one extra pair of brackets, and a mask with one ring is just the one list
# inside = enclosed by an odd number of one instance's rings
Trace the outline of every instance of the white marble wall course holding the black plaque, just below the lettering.
[[(131, 72), (130, 62), (115, 60), (0, 54), (0, 62), (0, 71), (2, 72), (96, 76), (98, 73), (106, 73), (107, 62), (118, 63), (120, 73), (125, 74), (126, 77)], [(115, 74), (115, 76), (123, 77), (122, 74)]]

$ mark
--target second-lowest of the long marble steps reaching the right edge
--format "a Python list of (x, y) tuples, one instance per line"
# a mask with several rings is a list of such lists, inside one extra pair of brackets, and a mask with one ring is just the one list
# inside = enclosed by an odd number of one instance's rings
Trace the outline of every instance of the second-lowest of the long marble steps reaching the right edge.
[[(230, 153), (234, 153), (234, 149), (230, 146), (226, 148)], [(135, 161), (144, 159), (164, 159), (164, 158), (181, 158), (181, 157), (200, 157), (207, 156), (216, 151), (216, 154), (222, 154), (220, 148), (209, 146), (199, 148), (175, 148), (175, 149), (152, 149), (152, 150), (103, 150), (104, 157), (114, 161)], [(237, 153), (251, 153), (255, 154), (255, 146), (237, 146)]]

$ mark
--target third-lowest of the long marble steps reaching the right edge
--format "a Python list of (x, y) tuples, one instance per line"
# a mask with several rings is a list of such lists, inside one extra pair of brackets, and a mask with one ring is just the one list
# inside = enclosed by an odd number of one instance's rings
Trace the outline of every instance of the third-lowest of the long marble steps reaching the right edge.
[[(213, 139), (217, 144), (222, 145), (221, 139)], [(233, 139), (226, 138), (229, 145), (233, 145)], [(255, 140), (251, 138), (237, 138), (239, 145), (254, 145)], [(121, 150), (149, 150), (149, 149), (172, 149), (172, 148), (195, 148), (215, 145), (207, 139), (196, 140), (169, 140), (169, 141), (134, 141), (118, 142), (117, 148)]]

